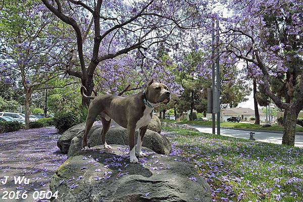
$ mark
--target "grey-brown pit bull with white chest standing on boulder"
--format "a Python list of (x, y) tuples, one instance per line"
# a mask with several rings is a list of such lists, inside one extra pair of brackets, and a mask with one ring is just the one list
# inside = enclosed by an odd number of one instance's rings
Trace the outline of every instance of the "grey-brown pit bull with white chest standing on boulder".
[(161, 104), (168, 104), (170, 100), (170, 92), (165, 84), (151, 80), (146, 89), (129, 97), (121, 97), (118, 95), (100, 95), (86, 96), (84, 94), (85, 87), (81, 87), (81, 94), (87, 99), (92, 99), (86, 118), (86, 125), (82, 141), (82, 150), (87, 150), (87, 134), (97, 116), (101, 117), (103, 129), (101, 132), (101, 140), (104, 148), (111, 149), (107, 144), (105, 135), (110, 129), (111, 120), (113, 119), (120, 126), (127, 128), (129, 132), (129, 158), (130, 163), (138, 163), (135, 156), (135, 130), (139, 129), (137, 139), (137, 151), (139, 157), (146, 155), (141, 150), (142, 140), (145, 135), (147, 125), (153, 117), (155, 107)]

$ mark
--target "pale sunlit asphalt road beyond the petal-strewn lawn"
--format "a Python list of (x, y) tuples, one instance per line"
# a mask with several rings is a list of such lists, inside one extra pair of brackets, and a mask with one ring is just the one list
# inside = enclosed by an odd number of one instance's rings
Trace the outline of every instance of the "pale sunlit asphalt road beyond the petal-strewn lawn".
[[(200, 132), (212, 133), (212, 128), (207, 126), (193, 126), (198, 129)], [(217, 129), (216, 129), (217, 133)], [(221, 135), (236, 137), (236, 138), (246, 138), (249, 139), (249, 131), (244, 130), (235, 130), (235, 129), (223, 129), (221, 128)], [(255, 139), (263, 142), (271, 142), (276, 144), (282, 143), (281, 133), (271, 133), (271, 132), (256, 132)], [(295, 136), (295, 146), (303, 147), (303, 135)]]

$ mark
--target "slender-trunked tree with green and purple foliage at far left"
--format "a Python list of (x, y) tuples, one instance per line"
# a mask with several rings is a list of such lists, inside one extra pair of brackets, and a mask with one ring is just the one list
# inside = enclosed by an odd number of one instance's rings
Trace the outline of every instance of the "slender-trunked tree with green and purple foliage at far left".
[[(7, 84), (20, 83), (25, 96), (25, 127), (29, 124), (30, 98), (34, 90), (45, 89), (60, 71), (69, 45), (60, 25), (35, 1), (6, 2), (0, 17), (0, 67)], [(56, 36), (53, 34), (56, 32)], [(61, 32), (63, 33), (63, 32)], [(66, 39), (66, 40), (62, 40)], [(13, 79), (14, 78), (14, 79)]]

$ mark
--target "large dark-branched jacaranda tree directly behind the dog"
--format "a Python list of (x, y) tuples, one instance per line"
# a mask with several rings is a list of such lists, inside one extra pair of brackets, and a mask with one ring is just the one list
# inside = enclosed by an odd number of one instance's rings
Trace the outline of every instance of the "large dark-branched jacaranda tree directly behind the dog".
[[(158, 43), (176, 48), (186, 41), (187, 30), (203, 23), (201, 16), (207, 11), (205, 2), (200, 0), (42, 2), (49, 11), (70, 25), (76, 34), (76, 52), (73, 52), (66, 71), (81, 79), (87, 95), (94, 89), (96, 68), (108, 68), (104, 61), (113, 59), (119, 63), (120, 60), (115, 60), (117, 57), (133, 54), (133, 50), (140, 56), (132, 59), (146, 61), (148, 54), (153, 55)], [(151, 60), (148, 62), (151, 63)], [(77, 64), (80, 64), (80, 69), (75, 67)], [(108, 70), (111, 71), (112, 67)], [(88, 105), (88, 100), (82, 99), (82, 104)]]

